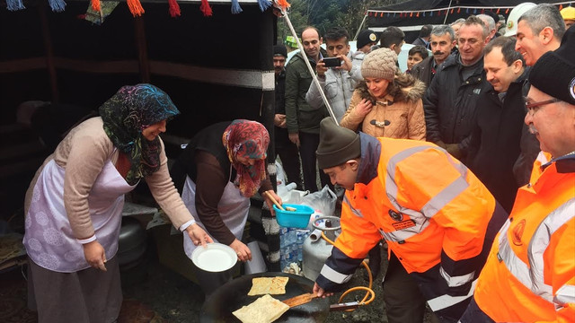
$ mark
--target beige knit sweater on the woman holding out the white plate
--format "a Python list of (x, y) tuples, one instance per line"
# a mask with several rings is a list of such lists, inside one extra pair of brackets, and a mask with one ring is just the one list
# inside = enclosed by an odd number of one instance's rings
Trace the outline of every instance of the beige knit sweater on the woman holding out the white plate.
[[(66, 170), (64, 178), (64, 205), (76, 239), (90, 238), (94, 234), (92, 219), (90, 218), (88, 196), (92, 186), (102, 168), (108, 160), (116, 164), (118, 150), (115, 149), (110, 138), (103, 129), (102, 118), (90, 118), (70, 131), (58, 144), (56, 152), (49, 155), (44, 161), (31, 185), (26, 192), (24, 214), (28, 214), (31, 203), (31, 194), (36, 181), (44, 166), (55, 160), (57, 165)], [(164, 152), (160, 154), (160, 169), (146, 182), (155, 201), (170, 217), (176, 228), (192, 219), (190, 211), (181, 201), (178, 191), (173, 186), (172, 178), (168, 172), (168, 158)]]

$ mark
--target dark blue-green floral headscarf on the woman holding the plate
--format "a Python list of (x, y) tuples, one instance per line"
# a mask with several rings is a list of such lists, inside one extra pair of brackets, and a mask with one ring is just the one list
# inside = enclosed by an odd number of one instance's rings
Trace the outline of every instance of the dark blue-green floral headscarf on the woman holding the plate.
[(160, 168), (160, 139), (148, 141), (142, 130), (173, 118), (180, 111), (164, 91), (151, 84), (122, 86), (100, 107), (104, 131), (120, 152), (126, 153), (130, 169), (126, 181), (134, 185)]

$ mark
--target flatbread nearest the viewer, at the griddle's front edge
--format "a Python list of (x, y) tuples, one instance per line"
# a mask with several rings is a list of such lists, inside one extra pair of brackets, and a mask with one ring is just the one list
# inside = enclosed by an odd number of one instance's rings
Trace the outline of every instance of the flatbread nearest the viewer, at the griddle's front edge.
[[(288, 278), (288, 277), (286, 277)], [(265, 294), (232, 314), (242, 323), (270, 323), (289, 310), (289, 306)]]

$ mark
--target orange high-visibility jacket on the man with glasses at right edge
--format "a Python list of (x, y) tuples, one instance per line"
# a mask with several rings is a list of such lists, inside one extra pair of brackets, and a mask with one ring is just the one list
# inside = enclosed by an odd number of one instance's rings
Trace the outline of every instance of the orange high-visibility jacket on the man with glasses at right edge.
[(575, 322), (575, 155), (539, 154), (474, 293), (497, 322)]

